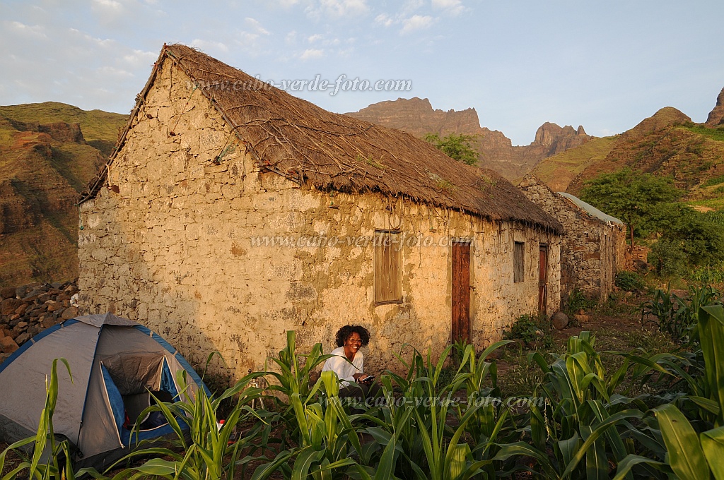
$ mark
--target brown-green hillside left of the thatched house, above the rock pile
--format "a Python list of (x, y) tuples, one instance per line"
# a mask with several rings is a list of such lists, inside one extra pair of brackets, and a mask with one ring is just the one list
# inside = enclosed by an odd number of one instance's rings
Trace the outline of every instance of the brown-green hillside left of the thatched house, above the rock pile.
[(0, 106), (0, 286), (77, 276), (78, 193), (125, 119), (63, 103)]

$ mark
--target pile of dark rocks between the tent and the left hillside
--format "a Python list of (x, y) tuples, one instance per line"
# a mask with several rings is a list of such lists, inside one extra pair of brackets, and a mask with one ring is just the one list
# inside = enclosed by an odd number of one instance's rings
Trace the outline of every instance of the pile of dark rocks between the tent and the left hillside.
[(75, 282), (0, 288), (0, 361), (46, 328), (77, 317), (77, 291)]

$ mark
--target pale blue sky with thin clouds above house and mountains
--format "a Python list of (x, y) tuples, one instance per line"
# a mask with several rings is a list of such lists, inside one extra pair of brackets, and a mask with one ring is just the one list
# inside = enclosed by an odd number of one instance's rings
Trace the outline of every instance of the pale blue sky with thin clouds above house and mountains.
[(705, 121), (722, 19), (721, 0), (0, 0), (0, 105), (128, 113), (184, 43), (338, 113), (419, 97), (513, 145), (546, 121), (605, 136), (665, 106)]

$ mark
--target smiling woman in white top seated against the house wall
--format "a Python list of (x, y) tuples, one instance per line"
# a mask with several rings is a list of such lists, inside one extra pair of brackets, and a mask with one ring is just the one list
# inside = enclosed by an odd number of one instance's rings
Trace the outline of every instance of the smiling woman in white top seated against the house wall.
[(364, 354), (359, 349), (369, 344), (369, 331), (361, 325), (345, 325), (337, 330), (335, 340), (337, 348), (332, 350), (335, 356), (324, 362), (322, 372), (331, 370), (340, 377), (340, 397), (366, 397), (374, 377), (364, 373)]

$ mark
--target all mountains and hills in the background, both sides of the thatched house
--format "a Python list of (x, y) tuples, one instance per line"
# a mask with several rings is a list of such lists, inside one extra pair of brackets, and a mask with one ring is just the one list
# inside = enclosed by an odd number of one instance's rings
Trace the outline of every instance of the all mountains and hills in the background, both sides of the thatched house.
[[(665, 107), (611, 137), (545, 123), (530, 145), (481, 127), (474, 108), (442, 111), (400, 98), (347, 113), (418, 137), (473, 137), (479, 166), (515, 181), (532, 171), (556, 191), (580, 192), (600, 173), (630, 167), (672, 176), (686, 200), (724, 210), (724, 89), (704, 124)], [(0, 286), (77, 276), (77, 199), (111, 154), (127, 116), (64, 103), (0, 106)]]

